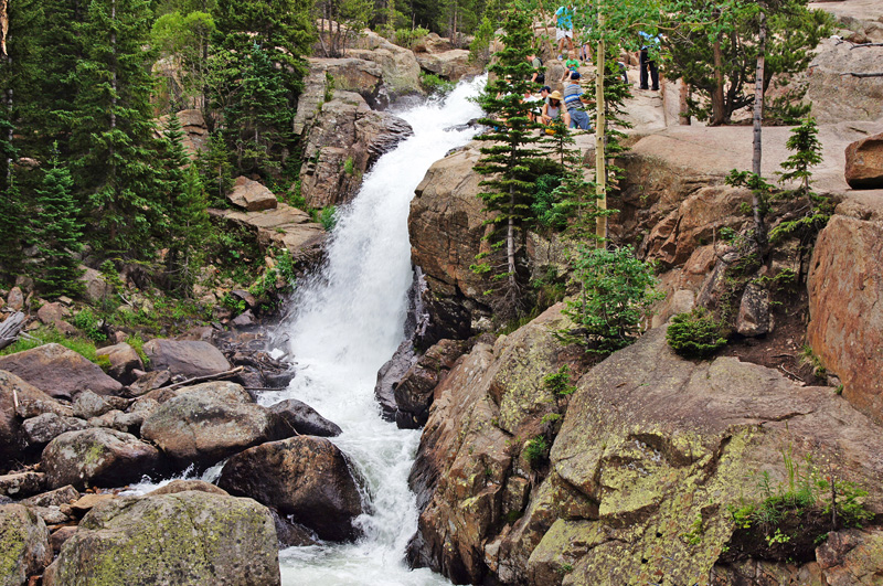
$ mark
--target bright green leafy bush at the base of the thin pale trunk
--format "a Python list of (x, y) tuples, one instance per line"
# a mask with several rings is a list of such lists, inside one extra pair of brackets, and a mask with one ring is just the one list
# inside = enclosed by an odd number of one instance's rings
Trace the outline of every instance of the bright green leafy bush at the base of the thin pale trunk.
[(652, 264), (636, 258), (630, 246), (608, 251), (581, 245), (574, 281), (579, 292), (564, 313), (576, 329), (561, 333), (589, 352), (608, 353), (632, 343), (650, 306), (664, 297), (655, 289)]

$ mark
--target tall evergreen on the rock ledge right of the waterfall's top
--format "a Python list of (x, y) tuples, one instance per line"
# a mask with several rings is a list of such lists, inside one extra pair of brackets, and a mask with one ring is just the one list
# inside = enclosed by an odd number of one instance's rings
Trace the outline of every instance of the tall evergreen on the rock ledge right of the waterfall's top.
[(532, 166), (541, 159), (542, 151), (536, 147), (542, 139), (533, 131), (538, 125), (528, 117), (530, 104), (522, 102), (533, 85), (529, 81), (533, 66), (526, 61), (533, 51), (530, 15), (510, 10), (503, 31), (504, 49), (496, 54), (490, 66), (496, 78), (488, 83), (480, 98), (487, 116), (479, 121), (491, 130), (478, 138), (490, 145), (481, 148), (482, 158), (475, 167), (479, 173), (489, 175), (480, 183), (486, 191), (479, 196), (490, 214), (486, 223), (493, 226), (493, 232), (489, 236), (490, 251), (476, 256), (479, 263), (472, 269), (497, 281), (492, 289), (498, 294), (497, 309), (506, 313), (518, 310), (523, 302), (517, 255), (532, 220), (536, 179)]

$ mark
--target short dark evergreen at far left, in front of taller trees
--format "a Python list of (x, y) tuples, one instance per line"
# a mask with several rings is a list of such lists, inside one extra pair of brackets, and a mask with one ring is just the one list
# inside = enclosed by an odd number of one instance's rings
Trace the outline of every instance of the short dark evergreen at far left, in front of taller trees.
[(53, 160), (36, 191), (36, 210), (31, 237), (40, 260), (33, 277), (38, 288), (47, 297), (78, 295), (83, 290), (83, 270), (74, 256), (83, 247), (83, 224), (73, 196), (73, 179), (64, 167)]

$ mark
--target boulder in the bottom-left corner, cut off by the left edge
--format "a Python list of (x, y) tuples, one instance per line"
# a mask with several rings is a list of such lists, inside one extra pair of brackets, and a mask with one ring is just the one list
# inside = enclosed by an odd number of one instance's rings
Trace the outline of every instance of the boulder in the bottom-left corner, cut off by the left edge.
[(0, 586), (24, 586), (52, 562), (46, 524), (21, 504), (0, 507)]

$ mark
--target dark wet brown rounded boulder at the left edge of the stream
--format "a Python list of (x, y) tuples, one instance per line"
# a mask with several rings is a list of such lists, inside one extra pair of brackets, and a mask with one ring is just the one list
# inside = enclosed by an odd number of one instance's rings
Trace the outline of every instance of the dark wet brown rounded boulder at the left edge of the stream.
[(217, 486), (251, 497), (316, 531), (323, 540), (355, 536), (359, 489), (343, 454), (320, 437), (270, 441), (232, 457)]

